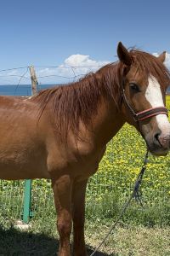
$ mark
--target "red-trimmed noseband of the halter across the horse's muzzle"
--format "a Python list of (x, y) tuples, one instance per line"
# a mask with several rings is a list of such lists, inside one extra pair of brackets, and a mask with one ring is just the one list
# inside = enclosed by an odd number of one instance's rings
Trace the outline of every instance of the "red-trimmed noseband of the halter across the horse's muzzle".
[(168, 116), (167, 108), (165, 107), (149, 108), (139, 113), (135, 113), (133, 117), (136, 122), (139, 122), (144, 119), (149, 119), (157, 114), (166, 114)]

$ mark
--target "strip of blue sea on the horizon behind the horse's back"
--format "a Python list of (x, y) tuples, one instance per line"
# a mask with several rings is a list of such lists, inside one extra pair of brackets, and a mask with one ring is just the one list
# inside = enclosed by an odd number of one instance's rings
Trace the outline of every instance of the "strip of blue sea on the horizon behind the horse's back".
[[(48, 89), (50, 87), (59, 86), (59, 84), (38, 84), (38, 90)], [(31, 84), (10, 84), (0, 85), (1, 96), (31, 96)]]

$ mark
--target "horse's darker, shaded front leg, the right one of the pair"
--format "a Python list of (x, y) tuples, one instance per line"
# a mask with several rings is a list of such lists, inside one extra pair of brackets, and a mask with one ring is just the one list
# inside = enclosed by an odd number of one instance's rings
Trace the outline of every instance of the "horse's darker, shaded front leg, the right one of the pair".
[(84, 239), (85, 193), (88, 179), (73, 183), (72, 219), (73, 219), (73, 252), (74, 256), (87, 256)]

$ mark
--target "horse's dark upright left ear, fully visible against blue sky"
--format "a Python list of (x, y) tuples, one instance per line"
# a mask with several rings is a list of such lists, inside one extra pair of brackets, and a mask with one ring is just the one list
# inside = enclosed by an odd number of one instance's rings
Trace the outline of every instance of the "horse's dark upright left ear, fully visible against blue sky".
[(132, 64), (132, 58), (122, 42), (119, 42), (117, 45), (117, 55), (119, 60), (122, 61), (125, 65), (130, 66)]

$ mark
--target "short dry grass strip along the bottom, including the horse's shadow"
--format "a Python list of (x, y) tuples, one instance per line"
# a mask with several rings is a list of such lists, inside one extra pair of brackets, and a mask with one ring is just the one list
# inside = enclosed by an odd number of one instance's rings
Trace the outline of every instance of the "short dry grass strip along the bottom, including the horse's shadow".
[[(54, 223), (54, 219), (39, 218), (31, 221), (28, 230), (21, 231), (6, 221), (3, 228), (0, 228), (0, 255), (56, 255), (59, 249), (59, 236)], [(105, 224), (98, 219), (95, 222), (86, 222), (85, 235), (89, 254), (99, 245), (110, 228), (111, 221)], [(169, 235), (170, 227), (148, 228), (119, 224), (115, 232), (99, 248), (96, 256), (169, 256)]]

